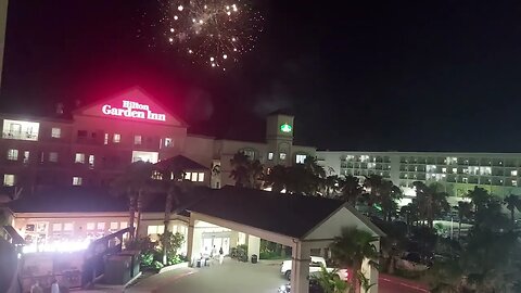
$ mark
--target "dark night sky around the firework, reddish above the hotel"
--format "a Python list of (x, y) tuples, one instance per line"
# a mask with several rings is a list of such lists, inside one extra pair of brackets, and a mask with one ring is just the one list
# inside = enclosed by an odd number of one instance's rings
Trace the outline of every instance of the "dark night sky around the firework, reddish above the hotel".
[(137, 85), (195, 133), (262, 139), (287, 107), (320, 149), (521, 152), (519, 1), (259, 1), (257, 46), (226, 74), (137, 38), (153, 3), (10, 1), (0, 111)]

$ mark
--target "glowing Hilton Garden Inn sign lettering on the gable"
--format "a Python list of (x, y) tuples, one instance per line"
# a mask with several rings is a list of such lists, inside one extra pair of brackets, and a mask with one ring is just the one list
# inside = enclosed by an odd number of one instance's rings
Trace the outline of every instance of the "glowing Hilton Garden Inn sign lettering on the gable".
[(132, 101), (123, 101), (122, 107), (114, 107), (112, 105), (103, 105), (101, 112), (105, 115), (138, 118), (154, 122), (165, 122), (166, 114), (154, 113), (147, 104), (140, 104)]

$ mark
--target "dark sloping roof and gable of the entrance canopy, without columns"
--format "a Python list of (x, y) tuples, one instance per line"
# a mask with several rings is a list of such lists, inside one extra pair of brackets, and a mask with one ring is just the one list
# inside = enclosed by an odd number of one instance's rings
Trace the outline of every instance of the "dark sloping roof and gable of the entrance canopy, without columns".
[(200, 189), (189, 212), (300, 240), (333, 239), (345, 226), (384, 235), (368, 218), (344, 202), (318, 196), (224, 187)]

